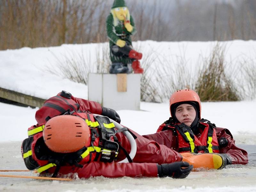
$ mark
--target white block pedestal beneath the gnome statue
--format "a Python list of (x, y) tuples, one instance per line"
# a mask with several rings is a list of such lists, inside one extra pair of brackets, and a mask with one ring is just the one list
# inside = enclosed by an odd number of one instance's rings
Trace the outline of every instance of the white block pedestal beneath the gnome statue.
[(90, 73), (88, 100), (115, 110), (140, 110), (141, 74)]

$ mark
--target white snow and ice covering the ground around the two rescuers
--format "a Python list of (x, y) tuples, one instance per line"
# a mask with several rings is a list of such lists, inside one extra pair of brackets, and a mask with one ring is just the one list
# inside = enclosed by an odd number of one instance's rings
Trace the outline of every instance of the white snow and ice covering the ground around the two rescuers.
[[(181, 49), (185, 50), (186, 60), (190, 61), (191, 67), (196, 65), (198, 55), (207, 55), (214, 42), (135, 42), (145, 52), (154, 49), (161, 53), (163, 57), (176, 57), (181, 54)], [(234, 60), (242, 56), (256, 58), (256, 41), (231, 41), (226, 42), (228, 51), (227, 60)], [(91, 62), (95, 64), (95, 52), (102, 44), (83, 44), (83, 45), (62, 45), (60, 47), (48, 48), (21, 48), (17, 50), (0, 51), (0, 87), (13, 91), (29, 94), (32, 96), (47, 99), (56, 95), (61, 90), (71, 92), (75, 97), (87, 99), (87, 86), (71, 82), (59, 76), (47, 73), (47, 66), (56, 64), (56, 57), (68, 54), (70, 50), (91, 54)], [(54, 53), (54, 54), (53, 54)], [(184, 53), (184, 52), (183, 52)], [(183, 54), (182, 53), (182, 54)], [(142, 60), (143, 62), (143, 60)], [(119, 110), (121, 123), (133, 129), (140, 134), (149, 134), (156, 132), (158, 126), (167, 120), (169, 114), (169, 104), (141, 102), (140, 111)], [(244, 100), (239, 102), (203, 102), (202, 117), (215, 123), (217, 126), (225, 127), (233, 134), (236, 144), (256, 145), (256, 129), (254, 126), (256, 100)], [(0, 103), (0, 169), (17, 169), (22, 167), (23, 162), (20, 156), (20, 142), (27, 137), (27, 128), (35, 121), (35, 112), (38, 108), (25, 108)], [(134, 123), (136, 122), (136, 123)], [(255, 149), (255, 148), (254, 148)], [(12, 154), (14, 153), (14, 154)], [(252, 154), (256, 153), (256, 149)], [(8, 156), (11, 159), (6, 159)], [(13, 160), (14, 159), (14, 160)], [(8, 164), (7, 162), (12, 162)], [(255, 162), (254, 162), (255, 164)], [(10, 166), (9, 166), (10, 165)], [(24, 167), (23, 167), (24, 168)], [(238, 170), (238, 171), (237, 171)], [(253, 180), (246, 179), (246, 186), (241, 182), (232, 181), (246, 176), (242, 167), (233, 167), (225, 170), (215, 170), (211, 172), (194, 172), (186, 180), (172, 180), (169, 178), (160, 179), (106, 179), (96, 178), (90, 180), (80, 180), (67, 184), (55, 181), (32, 181), (25, 184), (22, 181), (3, 180), (0, 178), (0, 190), (33, 191), (28, 186), (36, 185), (42, 187), (49, 185), (46, 189), (54, 191), (86, 191), (82, 186), (90, 186), (88, 191), (205, 191), (214, 188), (218, 191), (255, 191), (255, 168), (246, 169), (247, 176)], [(1, 173), (0, 173), (1, 174)], [(225, 178), (228, 178), (225, 185)], [(197, 180), (202, 180), (202, 186)], [(214, 182), (207, 183), (207, 180), (221, 182), (221, 185), (215, 185)], [(10, 187), (18, 181), (18, 184)], [(223, 181), (223, 182), (222, 182)], [(100, 183), (102, 187), (94, 187)], [(169, 183), (169, 184), (168, 184)], [(196, 184), (193, 184), (196, 183)], [(61, 186), (61, 187), (60, 187)], [(73, 187), (72, 187), (73, 186)], [(74, 186), (81, 186), (75, 188)], [(115, 187), (116, 186), (116, 187)], [(170, 187), (172, 186), (172, 187)], [(236, 186), (236, 187), (235, 187)], [(37, 188), (36, 187), (36, 188)], [(211, 189), (212, 190), (212, 189)]]

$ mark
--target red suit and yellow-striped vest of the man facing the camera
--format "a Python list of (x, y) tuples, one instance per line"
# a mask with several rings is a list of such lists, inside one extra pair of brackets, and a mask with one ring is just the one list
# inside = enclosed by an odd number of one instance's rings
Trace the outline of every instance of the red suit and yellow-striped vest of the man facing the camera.
[(143, 135), (143, 137), (155, 140), (180, 153), (225, 153), (231, 158), (232, 164), (248, 163), (247, 152), (236, 147), (235, 140), (228, 129), (216, 127), (215, 124), (205, 123), (202, 120), (198, 125), (199, 133), (194, 135), (191, 129), (182, 130), (177, 126), (180, 123), (172, 124), (171, 122), (170, 118), (159, 126), (156, 133)]

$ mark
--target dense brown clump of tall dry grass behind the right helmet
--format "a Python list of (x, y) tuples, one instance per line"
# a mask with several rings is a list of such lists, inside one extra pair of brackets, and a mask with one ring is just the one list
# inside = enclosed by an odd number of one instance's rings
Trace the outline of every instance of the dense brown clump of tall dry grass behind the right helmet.
[(225, 73), (225, 46), (216, 44), (198, 72), (195, 91), (201, 101), (238, 101), (240, 93)]

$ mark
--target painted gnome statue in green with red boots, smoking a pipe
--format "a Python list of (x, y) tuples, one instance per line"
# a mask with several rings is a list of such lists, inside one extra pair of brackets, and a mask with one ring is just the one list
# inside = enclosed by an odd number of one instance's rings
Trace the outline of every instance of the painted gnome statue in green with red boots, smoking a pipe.
[(143, 73), (140, 67), (142, 53), (132, 47), (131, 35), (136, 33), (135, 24), (124, 0), (115, 0), (111, 13), (106, 20), (109, 39), (110, 60), (109, 73)]

